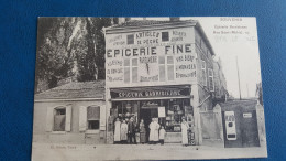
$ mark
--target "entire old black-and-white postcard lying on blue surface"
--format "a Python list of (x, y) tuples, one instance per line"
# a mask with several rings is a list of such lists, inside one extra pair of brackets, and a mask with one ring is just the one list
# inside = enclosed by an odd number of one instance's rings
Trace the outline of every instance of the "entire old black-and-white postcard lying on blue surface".
[(267, 157), (255, 18), (37, 26), (32, 160)]

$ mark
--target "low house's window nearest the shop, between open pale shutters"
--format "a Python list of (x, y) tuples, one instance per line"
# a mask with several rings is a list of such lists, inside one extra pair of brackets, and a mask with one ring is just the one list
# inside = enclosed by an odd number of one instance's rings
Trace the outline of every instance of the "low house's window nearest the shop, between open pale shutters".
[(98, 130), (100, 121), (100, 107), (89, 106), (87, 107), (87, 124), (89, 130)]

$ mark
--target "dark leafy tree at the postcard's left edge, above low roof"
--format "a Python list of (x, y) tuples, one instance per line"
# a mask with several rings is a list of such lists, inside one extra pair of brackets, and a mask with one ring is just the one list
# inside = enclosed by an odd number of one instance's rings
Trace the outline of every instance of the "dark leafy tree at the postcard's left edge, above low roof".
[(68, 44), (74, 28), (73, 18), (38, 19), (35, 89), (41, 79), (52, 88), (70, 74), (73, 57)]

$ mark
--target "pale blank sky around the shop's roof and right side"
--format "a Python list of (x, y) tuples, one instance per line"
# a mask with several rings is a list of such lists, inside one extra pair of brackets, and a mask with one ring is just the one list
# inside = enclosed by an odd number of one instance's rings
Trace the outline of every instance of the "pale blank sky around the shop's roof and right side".
[[(142, 18), (133, 18), (142, 20)], [(248, 17), (184, 17), (180, 20), (198, 20), (216, 53), (220, 58), (227, 79), (228, 92), (240, 97), (255, 97), (256, 84), (261, 83), (261, 63), (256, 31), (256, 19)], [(146, 18), (146, 20), (168, 20), (168, 18)]]

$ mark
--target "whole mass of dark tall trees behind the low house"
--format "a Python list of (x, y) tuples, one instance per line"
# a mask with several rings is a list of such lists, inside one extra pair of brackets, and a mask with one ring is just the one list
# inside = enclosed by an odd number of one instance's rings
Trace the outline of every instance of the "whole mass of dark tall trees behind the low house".
[(38, 80), (48, 88), (75, 76), (79, 82), (106, 78), (103, 28), (112, 18), (38, 19), (35, 89)]

